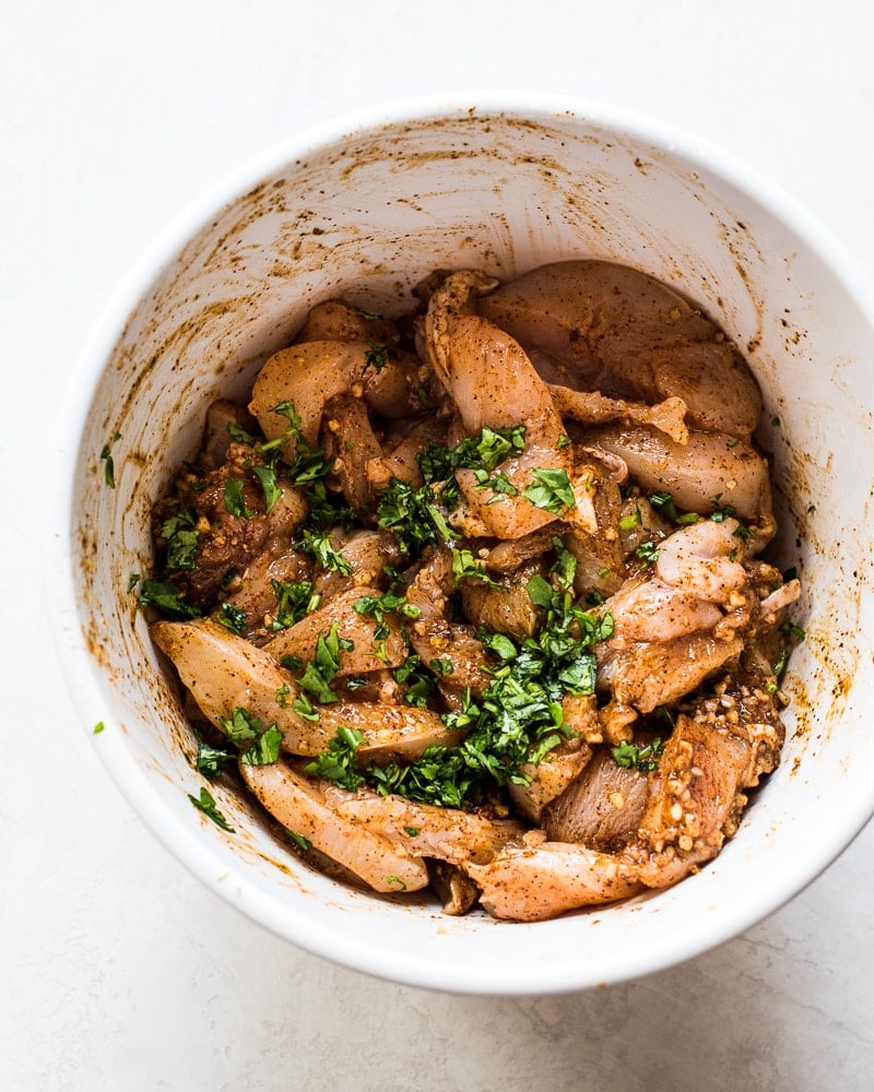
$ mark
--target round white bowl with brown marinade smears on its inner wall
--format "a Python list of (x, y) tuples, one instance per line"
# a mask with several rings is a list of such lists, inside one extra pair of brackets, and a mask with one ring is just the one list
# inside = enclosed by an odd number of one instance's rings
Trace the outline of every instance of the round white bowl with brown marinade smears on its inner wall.
[[(765, 394), (779, 562), (804, 584), (788, 740), (722, 854), (677, 887), (538, 924), (370, 897), (284, 854), (249, 805), (192, 808), (189, 728), (128, 592), (149, 510), (203, 411), (243, 395), (317, 300), (398, 313), (430, 270), (508, 277), (571, 257), (671, 281), (745, 351)], [(131, 805), (256, 922), (375, 975), (481, 994), (639, 976), (800, 891), (874, 811), (874, 297), (783, 193), (668, 127), (592, 103), (483, 94), (404, 103), (296, 136), (208, 194), (128, 278), (64, 408), (52, 625), (75, 705)], [(114, 437), (117, 437), (114, 439)], [(101, 452), (111, 446), (116, 487)]]

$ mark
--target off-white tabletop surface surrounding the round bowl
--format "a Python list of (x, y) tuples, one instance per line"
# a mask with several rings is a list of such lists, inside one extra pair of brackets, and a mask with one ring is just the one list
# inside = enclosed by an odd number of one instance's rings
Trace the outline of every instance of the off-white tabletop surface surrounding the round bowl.
[(874, 1087), (872, 826), (737, 939), (572, 996), (370, 981), (244, 919), (153, 841), (76, 722), (35, 506), (57, 392), (119, 277), (213, 180), (359, 106), (491, 85), (660, 115), (871, 268), (870, 23), (846, 0), (0, 3), (0, 1088)]

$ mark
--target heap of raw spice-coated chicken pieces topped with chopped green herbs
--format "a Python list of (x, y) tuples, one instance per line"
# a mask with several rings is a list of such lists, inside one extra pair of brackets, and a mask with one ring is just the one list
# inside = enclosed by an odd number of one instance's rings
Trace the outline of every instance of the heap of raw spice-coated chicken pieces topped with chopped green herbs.
[(151, 634), (288, 851), (539, 921), (682, 880), (779, 760), (761, 396), (627, 266), (317, 305), (155, 507)]

